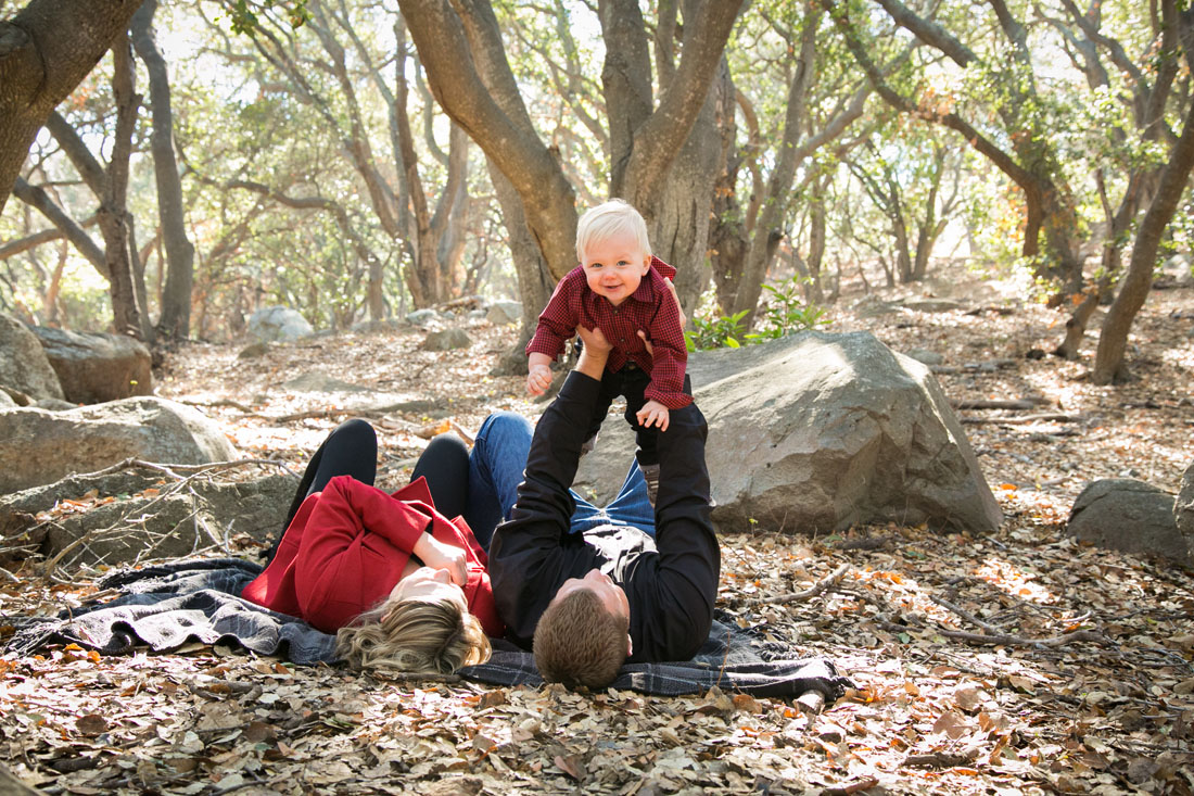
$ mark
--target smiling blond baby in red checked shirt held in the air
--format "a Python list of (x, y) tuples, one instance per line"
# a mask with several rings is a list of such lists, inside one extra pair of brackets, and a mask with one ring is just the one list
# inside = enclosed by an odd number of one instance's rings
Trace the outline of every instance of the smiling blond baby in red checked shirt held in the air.
[(693, 403), (684, 366), (684, 324), (671, 277), (676, 269), (652, 257), (647, 225), (622, 200), (591, 208), (577, 225), (580, 265), (555, 286), (527, 344), (527, 390), (541, 396), (552, 384), (552, 361), (578, 325), (599, 329), (614, 347), (602, 376), (602, 396), (589, 429), (592, 447), (615, 396), (626, 397), (635, 429), (639, 467), (654, 506), (659, 485), (656, 434), (667, 430), (670, 409)]

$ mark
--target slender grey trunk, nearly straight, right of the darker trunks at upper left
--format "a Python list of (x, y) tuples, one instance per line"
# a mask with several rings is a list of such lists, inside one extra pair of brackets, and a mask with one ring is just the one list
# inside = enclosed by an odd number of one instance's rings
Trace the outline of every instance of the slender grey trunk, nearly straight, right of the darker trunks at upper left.
[(191, 288), (195, 283), (195, 246), (186, 237), (183, 208), (183, 180), (174, 159), (174, 121), (170, 99), (166, 61), (154, 41), (153, 16), (156, 0), (146, 0), (133, 16), (133, 44), (149, 74), (149, 100), (153, 105), (154, 177), (158, 183), (158, 218), (166, 244), (166, 289), (161, 296), (158, 333), (185, 338), (191, 326)]

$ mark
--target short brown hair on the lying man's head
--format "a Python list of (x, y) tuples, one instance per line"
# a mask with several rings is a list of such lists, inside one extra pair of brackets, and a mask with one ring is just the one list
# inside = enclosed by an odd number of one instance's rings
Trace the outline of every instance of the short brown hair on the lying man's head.
[(548, 682), (604, 688), (626, 661), (629, 620), (591, 589), (553, 600), (535, 626), (535, 665)]

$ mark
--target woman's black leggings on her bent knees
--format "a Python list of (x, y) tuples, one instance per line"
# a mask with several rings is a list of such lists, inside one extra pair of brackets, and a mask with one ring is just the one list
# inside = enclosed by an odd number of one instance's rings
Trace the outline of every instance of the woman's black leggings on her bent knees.
[[(377, 433), (363, 420), (353, 418), (340, 423), (315, 451), (298, 482), (298, 489), (287, 512), (287, 521), (270, 549), (266, 563), (273, 561), (282, 535), (307, 496), (322, 491), (327, 482), (337, 476), (352, 476), (370, 486), (377, 477)], [(419, 476), (427, 479), (431, 500), (441, 514), (458, 516), (464, 513), (468, 500), (468, 446), (463, 440), (455, 434), (441, 434), (431, 440), (419, 455), (411, 480)]]

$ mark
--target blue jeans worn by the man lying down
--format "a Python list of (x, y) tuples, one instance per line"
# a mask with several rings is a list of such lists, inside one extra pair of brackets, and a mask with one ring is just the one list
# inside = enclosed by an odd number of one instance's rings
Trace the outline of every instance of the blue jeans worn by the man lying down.
[[(515, 412), (494, 412), (485, 418), (468, 457), (468, 502), (464, 520), (486, 550), (493, 529), (510, 519), (518, 498), (527, 454), (530, 452), (530, 422)], [(568, 490), (577, 509), (568, 525), (570, 533), (580, 533), (602, 525), (629, 525), (656, 535), (656, 512), (647, 500), (647, 482), (635, 461), (626, 473), (617, 497), (601, 509)]]

